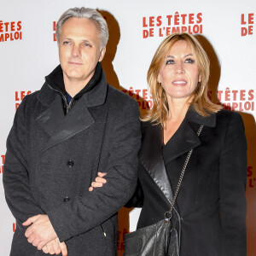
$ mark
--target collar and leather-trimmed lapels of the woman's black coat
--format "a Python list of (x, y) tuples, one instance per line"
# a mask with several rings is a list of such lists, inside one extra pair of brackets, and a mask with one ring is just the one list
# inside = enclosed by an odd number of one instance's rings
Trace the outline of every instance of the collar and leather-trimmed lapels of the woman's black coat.
[[(215, 123), (216, 114), (203, 117), (196, 113), (193, 108), (189, 108), (183, 123), (173, 135), (172, 141), (166, 144), (167, 147), (170, 147), (168, 156), (165, 155), (166, 161), (163, 158), (163, 131), (161, 125), (145, 125), (139, 159), (148, 174), (166, 196), (167, 201), (172, 202), (173, 189), (175, 188), (172, 188), (169, 181), (166, 164), (201, 144), (201, 139), (197, 136), (200, 125), (214, 127)], [(180, 166), (181, 170), (182, 167)]]

